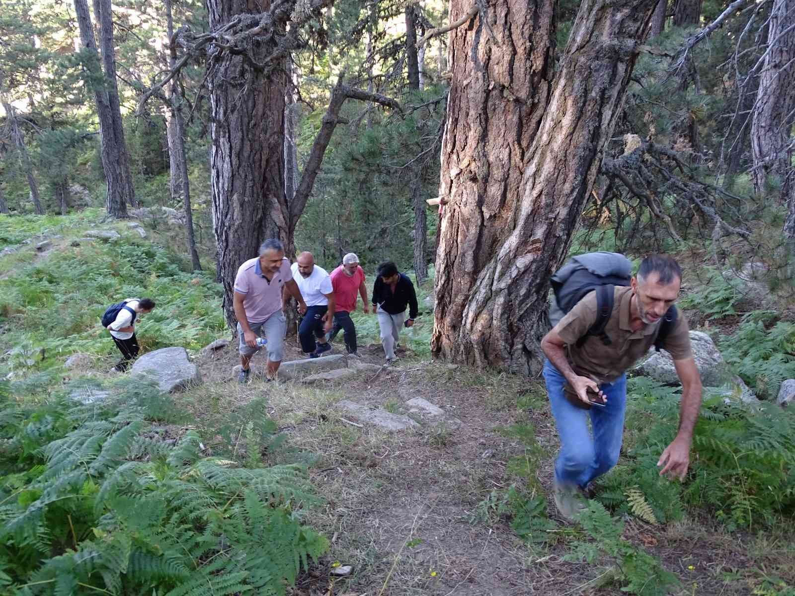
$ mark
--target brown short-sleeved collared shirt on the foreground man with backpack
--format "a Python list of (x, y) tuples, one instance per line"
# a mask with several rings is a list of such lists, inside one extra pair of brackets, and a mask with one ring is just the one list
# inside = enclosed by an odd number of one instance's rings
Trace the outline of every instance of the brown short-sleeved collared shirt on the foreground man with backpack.
[[(614, 296), (613, 312), (604, 327), (607, 337), (611, 339), (610, 345), (605, 345), (598, 336), (591, 335), (582, 346), (576, 346), (577, 340), (596, 322), (596, 292), (584, 296), (555, 326), (560, 339), (566, 343), (568, 363), (572, 370), (585, 377), (593, 377), (600, 383), (615, 381), (642, 358), (657, 339), (657, 331), (662, 324), (660, 319), (657, 323), (644, 323), (638, 331), (632, 331), (632, 288), (616, 286)], [(674, 360), (692, 358), (688, 322), (681, 311), (677, 316), (677, 324), (665, 338), (662, 347)]]

